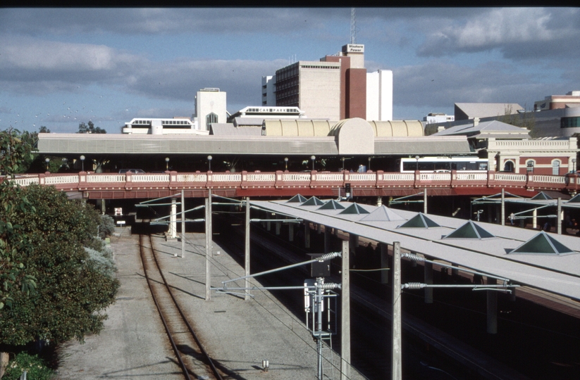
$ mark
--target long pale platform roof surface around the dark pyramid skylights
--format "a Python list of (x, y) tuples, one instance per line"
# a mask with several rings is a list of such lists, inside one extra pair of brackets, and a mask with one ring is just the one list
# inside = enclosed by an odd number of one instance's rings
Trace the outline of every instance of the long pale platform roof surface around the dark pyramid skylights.
[[(364, 222), (364, 215), (336, 215), (336, 210), (305, 210), (292, 207), (284, 201), (251, 201), (252, 205), (273, 212), (285, 213), (317, 224), (340, 229), (373, 241), (392, 244), (400, 241), (407, 251), (421, 253), (430, 258), (452, 262), (462, 267), (479, 270), (498, 277), (512, 279), (517, 284), (533, 286), (563, 296), (580, 300), (580, 255), (508, 255), (537, 234), (537, 231), (500, 224), (479, 223), (498, 239), (488, 239), (481, 244), (479, 239), (442, 239), (443, 236), (461, 227), (465, 220), (438, 215), (428, 215), (440, 224), (436, 229), (396, 229), (400, 221)], [(349, 203), (345, 203), (349, 204)], [(352, 203), (350, 203), (352, 204)], [(296, 203), (294, 203), (296, 205)], [(365, 205), (374, 209), (374, 206)], [(417, 213), (396, 210), (411, 219)], [(557, 235), (554, 239), (579, 253), (579, 238)]]

